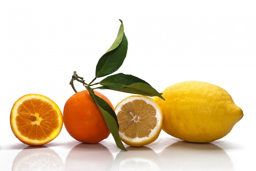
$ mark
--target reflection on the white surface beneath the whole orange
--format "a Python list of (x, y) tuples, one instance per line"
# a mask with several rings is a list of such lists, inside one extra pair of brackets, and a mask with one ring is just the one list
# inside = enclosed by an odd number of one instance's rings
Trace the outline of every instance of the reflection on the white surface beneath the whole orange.
[(109, 171), (114, 158), (102, 144), (81, 143), (73, 147), (65, 161), (65, 171)]

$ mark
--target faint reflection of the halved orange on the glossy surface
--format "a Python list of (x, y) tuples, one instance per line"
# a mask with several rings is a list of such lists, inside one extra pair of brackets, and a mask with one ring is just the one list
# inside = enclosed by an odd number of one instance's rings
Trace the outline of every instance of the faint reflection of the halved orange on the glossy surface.
[(49, 147), (26, 147), (13, 160), (12, 171), (63, 171), (59, 155)]

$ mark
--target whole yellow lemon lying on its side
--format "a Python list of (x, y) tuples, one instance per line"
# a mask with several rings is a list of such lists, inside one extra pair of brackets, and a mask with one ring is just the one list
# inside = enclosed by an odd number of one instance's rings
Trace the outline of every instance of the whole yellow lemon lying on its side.
[(200, 81), (174, 84), (153, 100), (162, 109), (163, 130), (188, 142), (212, 142), (227, 135), (243, 111), (221, 87)]

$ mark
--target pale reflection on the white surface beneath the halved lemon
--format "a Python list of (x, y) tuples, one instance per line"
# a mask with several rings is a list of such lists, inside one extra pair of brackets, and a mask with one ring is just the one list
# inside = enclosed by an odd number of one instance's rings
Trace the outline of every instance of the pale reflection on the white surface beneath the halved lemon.
[(120, 151), (111, 170), (118, 171), (160, 171), (159, 158), (155, 151), (148, 147), (126, 147)]

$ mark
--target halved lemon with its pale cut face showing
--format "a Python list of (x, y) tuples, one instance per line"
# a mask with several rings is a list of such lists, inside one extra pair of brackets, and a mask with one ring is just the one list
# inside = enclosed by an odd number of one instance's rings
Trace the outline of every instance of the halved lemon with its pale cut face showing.
[(121, 140), (133, 147), (154, 142), (161, 132), (163, 115), (158, 104), (144, 95), (132, 95), (115, 108)]

